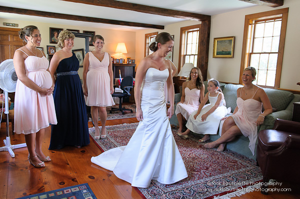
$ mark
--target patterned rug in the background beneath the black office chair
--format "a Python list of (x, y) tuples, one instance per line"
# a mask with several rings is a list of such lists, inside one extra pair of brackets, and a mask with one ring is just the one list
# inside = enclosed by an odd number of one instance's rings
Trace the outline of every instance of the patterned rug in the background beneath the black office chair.
[[(113, 108), (118, 108), (118, 104), (113, 105)], [(107, 112), (107, 119), (106, 120), (116, 120), (116, 119), (124, 119), (124, 118), (135, 118), (135, 104), (129, 104), (129, 105), (122, 105), (125, 109), (131, 109), (132, 113), (130, 111), (125, 111), (125, 114), (122, 115), (120, 111), (113, 111), (112, 113), (109, 113), (111, 110), (111, 107), (106, 107)], [(100, 119), (98, 119), (100, 121)], [(91, 118), (88, 118), (88, 122), (91, 122)]]

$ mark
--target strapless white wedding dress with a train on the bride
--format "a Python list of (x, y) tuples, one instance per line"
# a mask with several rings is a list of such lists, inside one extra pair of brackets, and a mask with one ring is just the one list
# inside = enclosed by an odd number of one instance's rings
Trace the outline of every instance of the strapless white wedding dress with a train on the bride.
[(163, 85), (167, 77), (167, 69), (146, 71), (140, 93), (143, 120), (127, 146), (91, 158), (132, 187), (147, 188), (151, 180), (168, 185), (187, 177), (166, 114)]

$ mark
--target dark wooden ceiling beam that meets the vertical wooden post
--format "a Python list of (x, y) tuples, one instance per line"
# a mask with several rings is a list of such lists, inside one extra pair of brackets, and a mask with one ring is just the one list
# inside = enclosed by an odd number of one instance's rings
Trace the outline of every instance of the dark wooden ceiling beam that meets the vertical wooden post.
[(210, 20), (210, 15), (198, 14), (193, 12), (185, 12), (185, 11), (179, 11), (174, 9), (161, 8), (161, 7), (154, 7), (149, 5), (137, 4), (137, 3), (123, 2), (118, 0), (63, 0), (63, 1), (132, 10), (132, 11), (143, 12), (148, 14), (171, 16), (171, 17), (183, 18), (188, 20), (190, 19), (197, 20), (197, 21)]

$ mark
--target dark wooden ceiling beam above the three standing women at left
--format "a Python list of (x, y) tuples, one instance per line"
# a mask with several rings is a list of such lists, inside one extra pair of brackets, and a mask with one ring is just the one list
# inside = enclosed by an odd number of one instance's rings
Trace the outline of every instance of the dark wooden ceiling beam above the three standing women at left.
[(54, 12), (21, 9), (21, 8), (15, 8), (15, 7), (0, 6), (0, 12), (26, 14), (26, 15), (42, 16), (42, 17), (50, 17), (50, 18), (61, 18), (61, 19), (67, 19), (67, 20), (86, 21), (86, 22), (94, 22), (94, 23), (107, 23), (107, 24), (114, 24), (114, 25), (126, 25), (126, 26), (133, 26), (133, 27), (164, 29), (163, 25), (119, 21), (119, 20), (112, 20), (112, 19), (87, 17), (87, 16), (77, 16), (77, 15), (71, 15), (71, 14), (60, 14), (60, 13), (54, 13)]

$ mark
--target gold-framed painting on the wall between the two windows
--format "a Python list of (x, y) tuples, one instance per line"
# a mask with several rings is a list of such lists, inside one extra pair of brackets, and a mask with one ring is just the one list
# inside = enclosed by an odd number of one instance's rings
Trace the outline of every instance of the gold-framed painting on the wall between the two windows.
[(234, 36), (213, 38), (214, 58), (233, 58)]

